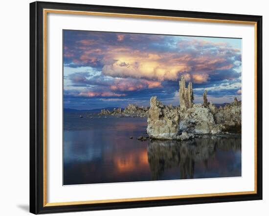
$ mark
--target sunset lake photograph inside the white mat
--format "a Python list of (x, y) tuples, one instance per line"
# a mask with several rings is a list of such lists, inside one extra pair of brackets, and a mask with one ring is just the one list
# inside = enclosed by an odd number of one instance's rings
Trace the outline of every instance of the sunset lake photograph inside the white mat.
[(63, 185), (242, 176), (242, 38), (63, 29)]

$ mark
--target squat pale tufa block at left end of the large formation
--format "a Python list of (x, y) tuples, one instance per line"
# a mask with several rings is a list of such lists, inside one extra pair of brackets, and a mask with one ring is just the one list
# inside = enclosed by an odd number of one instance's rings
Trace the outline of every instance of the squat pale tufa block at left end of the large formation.
[(147, 133), (157, 139), (175, 139), (179, 133), (179, 108), (150, 99)]

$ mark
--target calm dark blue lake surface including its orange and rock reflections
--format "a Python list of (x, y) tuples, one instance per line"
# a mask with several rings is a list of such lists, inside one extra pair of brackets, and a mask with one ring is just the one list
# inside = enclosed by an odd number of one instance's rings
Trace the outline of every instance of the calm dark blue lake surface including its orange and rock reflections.
[(146, 118), (92, 116), (64, 114), (65, 185), (241, 176), (241, 137), (141, 142)]

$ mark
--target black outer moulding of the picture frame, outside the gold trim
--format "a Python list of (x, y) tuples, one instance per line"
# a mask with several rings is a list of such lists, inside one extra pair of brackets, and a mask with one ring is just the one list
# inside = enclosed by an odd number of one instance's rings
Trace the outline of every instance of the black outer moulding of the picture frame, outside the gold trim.
[[(43, 9), (136, 14), (223, 21), (256, 22), (256, 193), (123, 201), (97, 204), (44, 205), (44, 13)], [(262, 199), (262, 16), (131, 8), (57, 2), (30, 3), (30, 212), (33, 214), (139, 208)]]

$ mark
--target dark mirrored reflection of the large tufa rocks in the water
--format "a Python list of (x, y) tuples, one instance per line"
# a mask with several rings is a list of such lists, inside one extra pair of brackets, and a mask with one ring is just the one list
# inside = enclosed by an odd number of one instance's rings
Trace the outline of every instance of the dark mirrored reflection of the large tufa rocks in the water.
[[(148, 145), (148, 161), (152, 180), (158, 180), (167, 170), (179, 167), (180, 179), (194, 178), (196, 173), (210, 171), (218, 164), (220, 177), (241, 175), (241, 137), (208, 137), (196, 138), (188, 141), (152, 140)], [(220, 151), (226, 151), (227, 157), (223, 160)], [(236, 156), (236, 170), (234, 175), (227, 172), (227, 165), (232, 155), (229, 152), (238, 152)], [(216, 158), (217, 154), (217, 158)], [(222, 153), (223, 154), (223, 153)], [(232, 158), (234, 160), (234, 158)], [(240, 160), (240, 163), (238, 162)], [(238, 164), (239, 163), (239, 164)], [(195, 166), (195, 165), (198, 166)], [(222, 171), (223, 172), (222, 172)], [(225, 174), (226, 173), (226, 174)]]

